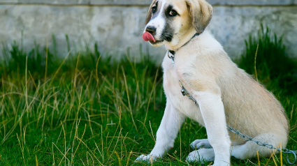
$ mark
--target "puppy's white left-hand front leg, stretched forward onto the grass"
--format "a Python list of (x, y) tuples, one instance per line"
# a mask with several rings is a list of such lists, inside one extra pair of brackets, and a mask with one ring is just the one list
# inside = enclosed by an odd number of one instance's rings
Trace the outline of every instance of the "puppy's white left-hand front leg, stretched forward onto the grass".
[(173, 147), (174, 140), (178, 135), (180, 126), (184, 123), (184, 115), (181, 114), (169, 99), (167, 99), (164, 116), (157, 131), (156, 144), (149, 155), (141, 155), (136, 160), (146, 160), (148, 162), (163, 158)]

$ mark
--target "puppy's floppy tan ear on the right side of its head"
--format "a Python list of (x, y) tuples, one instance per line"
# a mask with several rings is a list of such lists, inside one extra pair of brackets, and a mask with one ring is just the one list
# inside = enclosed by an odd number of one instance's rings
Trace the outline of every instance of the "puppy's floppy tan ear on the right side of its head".
[(191, 10), (193, 26), (198, 33), (202, 33), (212, 18), (212, 6), (205, 0), (186, 0)]

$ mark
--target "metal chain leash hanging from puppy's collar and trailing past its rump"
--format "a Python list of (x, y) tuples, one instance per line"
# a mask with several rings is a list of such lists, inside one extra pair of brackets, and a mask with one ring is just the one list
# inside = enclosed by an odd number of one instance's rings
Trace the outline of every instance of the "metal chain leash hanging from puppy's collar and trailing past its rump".
[[(169, 52), (167, 52), (167, 56), (169, 57), (169, 59), (171, 59), (173, 65), (174, 65), (174, 56), (170, 56), (169, 55)], [(181, 92), (182, 92), (182, 96), (187, 96), (189, 98), (189, 100), (192, 100), (194, 102), (194, 104), (199, 107), (197, 101), (187, 92), (186, 89), (184, 89), (184, 86), (182, 85), (182, 82), (180, 81), (180, 79), (178, 80), (179, 84), (180, 84), (180, 87), (182, 88)], [(236, 135), (239, 135), (240, 137), (242, 137), (242, 139), (245, 139), (247, 141), (252, 141), (252, 142), (255, 142), (256, 144), (258, 144), (259, 146), (265, 146), (266, 148), (268, 149), (274, 149), (276, 151), (282, 151), (282, 153), (286, 153), (287, 154), (287, 162), (289, 163), (289, 165), (294, 165), (296, 163), (296, 160), (297, 160), (297, 157), (296, 157), (296, 154), (297, 154), (297, 151), (293, 151), (293, 150), (289, 150), (289, 149), (285, 149), (285, 148), (275, 148), (272, 144), (265, 144), (263, 142), (260, 142), (260, 141), (257, 141), (257, 140), (254, 140), (252, 137), (249, 137), (248, 135), (244, 135), (242, 133), (240, 133), (238, 130), (232, 128), (231, 126), (228, 126), (227, 125), (227, 130), (229, 130), (230, 132), (236, 134)], [(291, 162), (290, 159), (289, 159), (289, 155), (293, 155), (294, 157), (294, 161)]]

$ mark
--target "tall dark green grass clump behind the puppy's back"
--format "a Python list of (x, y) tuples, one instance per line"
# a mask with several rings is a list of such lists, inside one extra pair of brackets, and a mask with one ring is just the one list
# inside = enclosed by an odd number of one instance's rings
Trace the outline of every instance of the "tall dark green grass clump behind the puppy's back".
[(268, 88), (282, 89), (291, 95), (297, 91), (297, 59), (289, 58), (282, 37), (261, 25), (258, 36), (249, 36), (245, 45), (245, 54), (238, 59), (240, 68), (251, 75), (258, 74)]

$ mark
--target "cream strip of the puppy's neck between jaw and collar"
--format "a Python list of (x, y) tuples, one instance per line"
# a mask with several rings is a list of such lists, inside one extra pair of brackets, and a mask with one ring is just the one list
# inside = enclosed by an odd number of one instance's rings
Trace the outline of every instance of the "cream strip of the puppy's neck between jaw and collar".
[(174, 54), (181, 47), (183, 47), (184, 45), (187, 45), (187, 43), (189, 43), (189, 41), (192, 38), (199, 36), (199, 35), (200, 34), (197, 33), (196, 31), (189, 31), (189, 33), (184, 34), (183, 38), (180, 39), (178, 45), (172, 45), (171, 43), (166, 43), (165, 44), (166, 50), (171, 52), (171, 54)]

